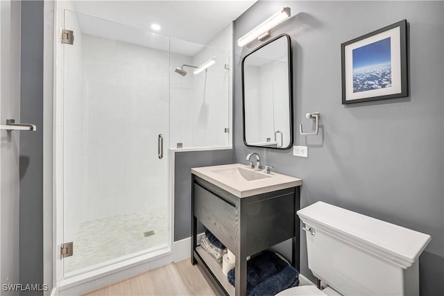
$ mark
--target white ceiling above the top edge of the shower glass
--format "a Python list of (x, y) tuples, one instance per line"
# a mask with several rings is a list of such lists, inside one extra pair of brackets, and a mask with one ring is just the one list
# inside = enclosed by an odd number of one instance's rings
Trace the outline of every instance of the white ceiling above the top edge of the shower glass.
[(153, 31), (156, 23), (162, 27), (156, 33), (207, 44), (256, 1), (75, 1), (75, 7), (85, 15), (146, 31)]

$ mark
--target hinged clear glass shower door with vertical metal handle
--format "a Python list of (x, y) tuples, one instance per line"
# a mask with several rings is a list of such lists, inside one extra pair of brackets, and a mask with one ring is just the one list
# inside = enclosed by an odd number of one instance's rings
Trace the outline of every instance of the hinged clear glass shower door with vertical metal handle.
[(65, 30), (66, 278), (167, 247), (170, 227), (169, 38), (69, 10)]

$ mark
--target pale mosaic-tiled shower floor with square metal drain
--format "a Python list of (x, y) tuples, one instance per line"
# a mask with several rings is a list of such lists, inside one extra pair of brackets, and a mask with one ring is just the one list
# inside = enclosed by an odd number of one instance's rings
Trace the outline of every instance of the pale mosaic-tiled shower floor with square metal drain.
[[(65, 273), (167, 244), (168, 229), (166, 207), (82, 223)], [(151, 230), (155, 234), (145, 237)]]

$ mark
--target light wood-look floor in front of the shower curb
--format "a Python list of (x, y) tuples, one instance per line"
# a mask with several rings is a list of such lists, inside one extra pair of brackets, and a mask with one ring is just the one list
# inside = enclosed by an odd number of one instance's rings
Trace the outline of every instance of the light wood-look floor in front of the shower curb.
[(110, 295), (216, 295), (210, 279), (190, 259), (150, 270), (83, 296)]

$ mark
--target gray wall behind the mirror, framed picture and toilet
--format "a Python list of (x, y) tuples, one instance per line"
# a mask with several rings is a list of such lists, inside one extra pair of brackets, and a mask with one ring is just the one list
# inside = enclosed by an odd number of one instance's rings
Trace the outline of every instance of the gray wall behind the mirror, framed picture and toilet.
[[(300, 177), (302, 207), (322, 200), (430, 234), (420, 291), (444, 295), (443, 1), (259, 1), (235, 21), (234, 40), (283, 6), (294, 17), (272, 37), (292, 38), (294, 143), (308, 146), (309, 158), (244, 145), (240, 66), (251, 48), (236, 46), (237, 162), (255, 151), (278, 173)], [(341, 43), (402, 19), (409, 21), (410, 96), (341, 105)], [(321, 112), (318, 136), (296, 132), (300, 123), (311, 128), (307, 112)], [(304, 234), (300, 255), (300, 272), (311, 276)]]

